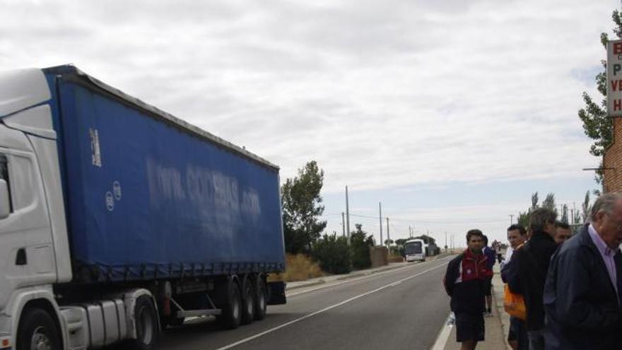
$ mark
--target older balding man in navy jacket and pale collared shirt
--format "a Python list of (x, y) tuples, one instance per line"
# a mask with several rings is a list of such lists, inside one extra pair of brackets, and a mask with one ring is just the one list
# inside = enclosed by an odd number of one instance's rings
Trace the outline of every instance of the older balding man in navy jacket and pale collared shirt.
[(622, 349), (622, 194), (592, 206), (590, 223), (553, 255), (544, 288), (546, 349)]

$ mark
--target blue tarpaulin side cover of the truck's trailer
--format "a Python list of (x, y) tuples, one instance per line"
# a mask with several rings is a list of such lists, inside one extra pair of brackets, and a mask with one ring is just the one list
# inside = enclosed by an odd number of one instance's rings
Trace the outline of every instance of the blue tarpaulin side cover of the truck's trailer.
[(278, 168), (105, 91), (73, 67), (45, 72), (75, 280), (284, 268)]

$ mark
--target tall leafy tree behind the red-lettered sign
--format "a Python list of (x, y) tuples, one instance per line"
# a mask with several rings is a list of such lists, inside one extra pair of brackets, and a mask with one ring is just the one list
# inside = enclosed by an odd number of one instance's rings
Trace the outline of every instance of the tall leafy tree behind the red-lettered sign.
[[(616, 25), (614, 28), (615, 35), (618, 38), (622, 38), (622, 18), (618, 10), (614, 11), (611, 18)], [(600, 42), (605, 49), (608, 41), (609, 35), (607, 35), (607, 33), (601, 33)], [(589, 153), (591, 153), (592, 156), (601, 158), (599, 168), (602, 168), (602, 157), (604, 156), (606, 147), (613, 141), (613, 124), (611, 118), (607, 117), (606, 112), (606, 61), (602, 60), (601, 64), (603, 70), (596, 75), (595, 80), (599, 93), (603, 95), (603, 100), (601, 103), (596, 103), (592, 100), (592, 97), (584, 91), (582, 97), (585, 107), (581, 108), (578, 112), (579, 118), (583, 122), (583, 131), (590, 139), (594, 140), (594, 144), (589, 147)], [(597, 170), (594, 180), (599, 184), (602, 183), (602, 170)]]

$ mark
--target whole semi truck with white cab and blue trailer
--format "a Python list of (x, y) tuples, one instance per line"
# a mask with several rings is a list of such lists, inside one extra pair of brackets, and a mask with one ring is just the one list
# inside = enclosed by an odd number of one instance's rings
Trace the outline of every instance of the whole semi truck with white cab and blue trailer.
[(0, 349), (285, 303), (278, 167), (74, 66), (0, 74)]

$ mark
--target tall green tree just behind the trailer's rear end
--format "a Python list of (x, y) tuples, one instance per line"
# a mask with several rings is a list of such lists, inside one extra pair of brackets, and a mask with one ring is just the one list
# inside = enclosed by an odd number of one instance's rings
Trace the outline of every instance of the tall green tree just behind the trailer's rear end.
[(310, 161), (305, 168), (298, 169), (298, 176), (287, 179), (281, 187), (285, 248), (291, 254), (310, 252), (311, 245), (326, 228), (327, 222), (318, 219), (324, 213), (319, 195), (323, 184), (324, 170)]

